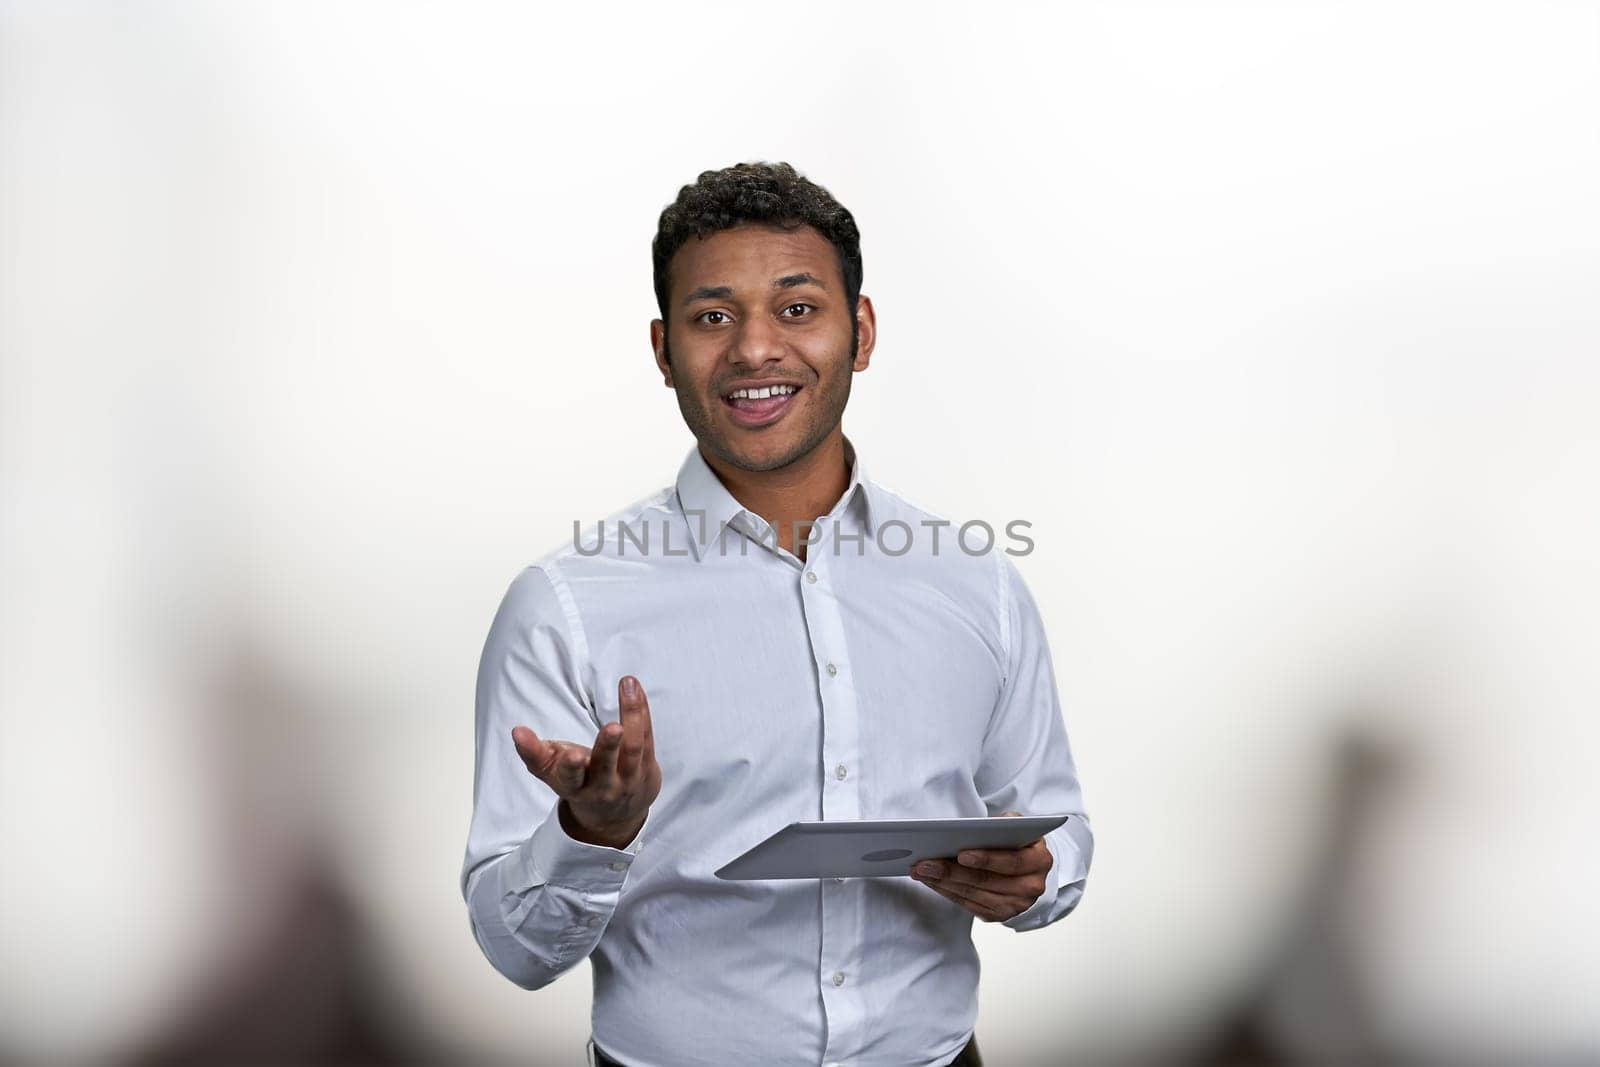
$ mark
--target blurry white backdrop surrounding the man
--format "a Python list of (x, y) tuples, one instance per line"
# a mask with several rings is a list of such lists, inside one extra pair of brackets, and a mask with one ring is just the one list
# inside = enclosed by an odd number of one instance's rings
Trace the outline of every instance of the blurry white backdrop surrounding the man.
[(150, 1040), (320, 843), (406, 1041), (574, 1062), (459, 897), (477, 656), (691, 443), (656, 214), (781, 158), (869, 472), (1034, 523), (1099, 848), (990, 1061), (1205, 1046), (1310, 883), (1387, 1054), (1600, 1054), (1595, 5), (563, 8), (0, 8), (0, 1051)]

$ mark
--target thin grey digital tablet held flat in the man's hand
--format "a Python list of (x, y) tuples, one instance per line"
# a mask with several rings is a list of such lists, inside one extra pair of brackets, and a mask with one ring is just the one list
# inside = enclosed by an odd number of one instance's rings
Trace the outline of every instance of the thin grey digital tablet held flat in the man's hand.
[(1070, 817), (790, 822), (723, 865), (717, 877), (730, 881), (904, 877), (918, 859), (949, 859), (963, 848), (1021, 848)]

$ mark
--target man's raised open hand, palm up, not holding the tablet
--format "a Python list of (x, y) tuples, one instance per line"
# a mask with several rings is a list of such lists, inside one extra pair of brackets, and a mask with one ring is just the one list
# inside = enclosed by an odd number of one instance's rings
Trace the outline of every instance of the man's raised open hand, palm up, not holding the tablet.
[(611, 848), (634, 840), (661, 792), (650, 702), (638, 678), (622, 677), (618, 702), (621, 723), (602, 726), (592, 745), (541, 741), (526, 726), (510, 731), (528, 773), (560, 797), (568, 835)]

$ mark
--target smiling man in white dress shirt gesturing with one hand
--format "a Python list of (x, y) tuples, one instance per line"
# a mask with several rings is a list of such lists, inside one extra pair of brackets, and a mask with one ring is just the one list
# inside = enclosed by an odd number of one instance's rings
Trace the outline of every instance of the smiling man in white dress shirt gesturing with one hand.
[[(981, 1064), (973, 917), (1056, 921), (1093, 851), (1034, 600), (845, 438), (877, 320), (827, 190), (707, 171), (653, 253), (651, 347), (698, 445), (499, 606), (474, 936), (526, 989), (592, 961), (602, 1065)], [(798, 819), (1058, 811), (912, 878), (712, 873)]]

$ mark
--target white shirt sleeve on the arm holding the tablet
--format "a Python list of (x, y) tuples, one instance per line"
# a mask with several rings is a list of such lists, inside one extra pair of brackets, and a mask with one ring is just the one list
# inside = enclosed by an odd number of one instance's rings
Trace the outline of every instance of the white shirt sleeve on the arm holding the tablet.
[(978, 792), (990, 814), (1072, 816), (1045, 835), (1053, 861), (1045, 891), (1026, 912), (1005, 920), (1021, 931), (1048, 926), (1077, 907), (1094, 854), (1094, 833), (1083, 811), (1038, 606), (1011, 560), (997, 557), (1005, 681), (984, 736)]

